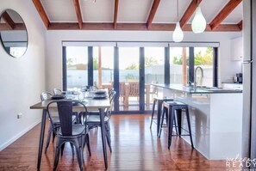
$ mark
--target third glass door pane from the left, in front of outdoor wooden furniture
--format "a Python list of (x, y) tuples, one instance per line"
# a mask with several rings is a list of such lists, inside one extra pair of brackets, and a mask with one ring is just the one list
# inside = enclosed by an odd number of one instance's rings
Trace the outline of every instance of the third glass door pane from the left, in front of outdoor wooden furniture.
[(139, 110), (139, 47), (119, 48), (119, 106)]

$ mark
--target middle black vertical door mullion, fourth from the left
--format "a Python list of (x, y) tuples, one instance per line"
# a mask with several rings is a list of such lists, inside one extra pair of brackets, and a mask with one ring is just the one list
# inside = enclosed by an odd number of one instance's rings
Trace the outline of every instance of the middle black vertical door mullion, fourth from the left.
[(140, 112), (145, 111), (145, 49), (140, 47), (140, 70), (139, 70), (139, 83), (140, 83)]

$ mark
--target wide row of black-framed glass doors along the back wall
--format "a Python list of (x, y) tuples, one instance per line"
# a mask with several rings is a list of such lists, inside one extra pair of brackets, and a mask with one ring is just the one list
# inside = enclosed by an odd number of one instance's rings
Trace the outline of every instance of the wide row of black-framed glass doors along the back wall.
[(194, 82), (195, 68), (197, 85), (216, 86), (216, 47), (77, 45), (63, 46), (63, 89), (114, 88), (116, 113), (152, 110), (153, 97), (164, 96), (153, 83), (186, 86)]

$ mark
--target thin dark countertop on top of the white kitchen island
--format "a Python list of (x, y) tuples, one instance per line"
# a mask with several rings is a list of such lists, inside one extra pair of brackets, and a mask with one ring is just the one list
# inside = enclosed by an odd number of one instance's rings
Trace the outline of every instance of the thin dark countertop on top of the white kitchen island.
[[(234, 93), (242, 93), (242, 90), (228, 89), (228, 90), (203, 90), (197, 89), (196, 91), (193, 88), (188, 88), (182, 85), (171, 85), (171, 84), (152, 84), (153, 86), (157, 86), (164, 89), (174, 89), (182, 92), (186, 92), (189, 94), (234, 94)], [(179, 87), (179, 89), (178, 89)]]

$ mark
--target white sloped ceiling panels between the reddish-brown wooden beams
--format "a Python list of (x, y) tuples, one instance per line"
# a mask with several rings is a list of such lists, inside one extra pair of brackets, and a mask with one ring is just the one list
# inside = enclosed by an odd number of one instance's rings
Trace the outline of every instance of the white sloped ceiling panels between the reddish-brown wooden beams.
[[(175, 23), (190, 5), (191, 0), (161, 0), (153, 18), (153, 23)], [(73, 0), (41, 0), (50, 22), (78, 22)], [(228, 3), (228, 0), (203, 0), (200, 3), (202, 13), (209, 23)], [(114, 21), (115, 0), (79, 0), (83, 22)], [(117, 23), (146, 23), (153, 0), (119, 0)], [(192, 21), (193, 15), (190, 18)], [(237, 24), (242, 20), (242, 3), (234, 9), (222, 24)]]

